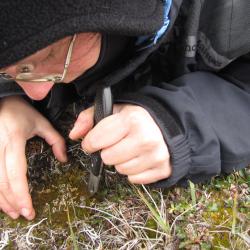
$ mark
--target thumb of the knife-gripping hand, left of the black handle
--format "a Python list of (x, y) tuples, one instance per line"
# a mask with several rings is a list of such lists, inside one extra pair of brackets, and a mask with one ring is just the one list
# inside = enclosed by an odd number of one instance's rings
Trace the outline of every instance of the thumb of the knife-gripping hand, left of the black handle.
[(94, 108), (91, 107), (78, 115), (73, 129), (69, 133), (69, 138), (72, 140), (83, 138), (93, 126)]

